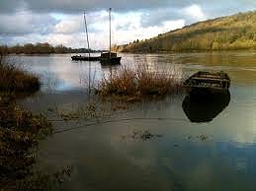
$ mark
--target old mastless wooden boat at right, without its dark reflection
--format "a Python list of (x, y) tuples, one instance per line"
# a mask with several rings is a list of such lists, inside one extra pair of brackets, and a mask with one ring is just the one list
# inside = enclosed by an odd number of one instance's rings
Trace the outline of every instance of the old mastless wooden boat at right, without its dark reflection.
[(230, 87), (230, 78), (222, 71), (200, 71), (192, 75), (183, 83), (187, 91), (202, 93), (223, 93)]

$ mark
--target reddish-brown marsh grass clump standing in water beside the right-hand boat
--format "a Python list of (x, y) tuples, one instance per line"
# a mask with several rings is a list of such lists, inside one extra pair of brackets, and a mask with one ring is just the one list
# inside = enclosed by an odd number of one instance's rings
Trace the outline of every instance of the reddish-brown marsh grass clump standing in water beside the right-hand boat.
[(147, 65), (136, 69), (122, 67), (103, 78), (97, 93), (100, 96), (120, 96), (124, 99), (141, 100), (178, 94), (182, 89), (182, 70), (179, 67), (150, 70)]

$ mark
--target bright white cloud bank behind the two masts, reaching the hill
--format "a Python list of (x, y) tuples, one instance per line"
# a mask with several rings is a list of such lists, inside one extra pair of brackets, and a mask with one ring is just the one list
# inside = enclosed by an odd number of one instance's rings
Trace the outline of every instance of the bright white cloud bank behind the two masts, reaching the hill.
[[(96, 13), (95, 13), (96, 14)], [(99, 12), (101, 20), (97, 23), (89, 23), (89, 40), (93, 49), (105, 49), (109, 46), (109, 20), (108, 12)], [(184, 20), (165, 21), (159, 26), (143, 27), (141, 25), (142, 14), (139, 12), (129, 12), (126, 14), (112, 15), (112, 43), (123, 44), (134, 39), (145, 39), (158, 35), (159, 33), (169, 32), (185, 25)], [(67, 18), (65, 18), (67, 19)], [(60, 21), (55, 27), (54, 32), (47, 35), (44, 39), (51, 44), (63, 44), (72, 47), (86, 47), (86, 37), (83, 26), (83, 16), (75, 16)], [(82, 28), (82, 30), (81, 30)], [(93, 30), (90, 30), (93, 29)]]

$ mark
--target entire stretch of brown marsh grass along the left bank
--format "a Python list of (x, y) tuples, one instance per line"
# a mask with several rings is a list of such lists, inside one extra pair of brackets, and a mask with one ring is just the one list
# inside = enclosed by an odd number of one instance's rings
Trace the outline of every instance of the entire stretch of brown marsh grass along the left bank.
[(65, 172), (33, 171), (39, 140), (52, 133), (42, 114), (19, 106), (15, 98), (40, 89), (39, 78), (6, 61), (0, 52), (0, 190), (52, 190)]

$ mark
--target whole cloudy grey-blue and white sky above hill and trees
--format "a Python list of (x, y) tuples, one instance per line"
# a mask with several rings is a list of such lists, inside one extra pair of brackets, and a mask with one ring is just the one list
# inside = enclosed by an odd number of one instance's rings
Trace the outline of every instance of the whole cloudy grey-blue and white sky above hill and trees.
[(0, 43), (49, 42), (91, 48), (150, 38), (195, 22), (256, 10), (256, 0), (0, 0)]

